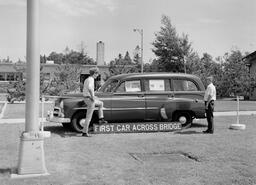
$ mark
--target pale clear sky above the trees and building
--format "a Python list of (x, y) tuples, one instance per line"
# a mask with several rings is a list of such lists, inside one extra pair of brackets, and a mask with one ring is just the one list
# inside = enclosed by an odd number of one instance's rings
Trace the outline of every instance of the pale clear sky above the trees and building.
[[(96, 44), (105, 44), (105, 61), (133, 56), (143, 29), (143, 60), (152, 52), (161, 17), (166, 15), (194, 51), (213, 57), (239, 49), (256, 51), (255, 0), (40, 0), (40, 54), (66, 47), (96, 60)], [(25, 60), (26, 0), (0, 0), (0, 59)]]

